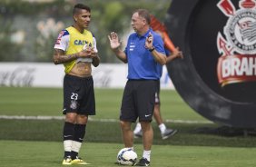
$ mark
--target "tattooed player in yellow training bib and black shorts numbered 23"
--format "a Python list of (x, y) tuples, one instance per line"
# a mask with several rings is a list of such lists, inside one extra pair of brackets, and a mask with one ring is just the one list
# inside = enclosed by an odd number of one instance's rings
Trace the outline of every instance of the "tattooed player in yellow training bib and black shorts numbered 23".
[(91, 9), (77, 4), (74, 25), (65, 28), (54, 45), (54, 64), (64, 64), (64, 165), (87, 164), (78, 156), (88, 115), (95, 114), (92, 64), (100, 64), (94, 35), (87, 30)]

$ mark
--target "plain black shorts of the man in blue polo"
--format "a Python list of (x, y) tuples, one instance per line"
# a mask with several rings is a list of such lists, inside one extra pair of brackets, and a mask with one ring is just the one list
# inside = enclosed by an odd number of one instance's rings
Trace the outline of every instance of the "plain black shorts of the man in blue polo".
[(120, 112), (120, 120), (127, 122), (151, 122), (153, 117), (156, 80), (127, 81)]

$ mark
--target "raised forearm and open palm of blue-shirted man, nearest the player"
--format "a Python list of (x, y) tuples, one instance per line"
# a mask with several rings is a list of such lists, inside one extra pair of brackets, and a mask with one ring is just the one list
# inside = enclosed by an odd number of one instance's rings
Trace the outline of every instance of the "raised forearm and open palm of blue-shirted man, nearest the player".
[(126, 54), (120, 49), (121, 43), (119, 41), (118, 35), (114, 32), (112, 32), (110, 35), (108, 35), (108, 39), (110, 42), (110, 47), (113, 51), (113, 53), (116, 55), (116, 57), (121, 60), (124, 64), (127, 64), (127, 56)]

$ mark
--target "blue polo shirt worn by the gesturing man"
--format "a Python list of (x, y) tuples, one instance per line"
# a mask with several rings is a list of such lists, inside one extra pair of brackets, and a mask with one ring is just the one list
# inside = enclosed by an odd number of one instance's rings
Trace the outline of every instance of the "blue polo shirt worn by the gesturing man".
[(124, 50), (128, 60), (128, 79), (159, 80), (161, 78), (162, 65), (158, 64), (152, 53), (145, 48), (146, 37), (150, 32), (153, 34), (155, 50), (165, 54), (162, 37), (151, 28), (142, 36), (137, 33), (131, 34)]

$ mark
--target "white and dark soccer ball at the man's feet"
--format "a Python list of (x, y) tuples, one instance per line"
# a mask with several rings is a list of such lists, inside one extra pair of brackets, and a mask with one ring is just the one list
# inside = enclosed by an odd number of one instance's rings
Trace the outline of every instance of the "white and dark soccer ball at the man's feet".
[(133, 166), (137, 160), (137, 153), (131, 148), (123, 148), (117, 153), (117, 162), (123, 165)]

